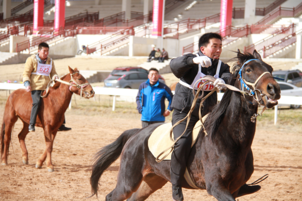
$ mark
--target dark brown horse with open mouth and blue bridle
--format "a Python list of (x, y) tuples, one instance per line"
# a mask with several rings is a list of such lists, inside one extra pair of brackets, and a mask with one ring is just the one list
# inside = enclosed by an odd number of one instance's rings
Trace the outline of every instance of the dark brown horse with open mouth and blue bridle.
[[(271, 75), (273, 68), (263, 62), (256, 51), (253, 54), (238, 51), (236, 58), (230, 85), (241, 89), (239, 69), (250, 59), (258, 59), (244, 65), (241, 74), (246, 82), (255, 83), (263, 73), (270, 72), (264, 74), (255, 87), (263, 97), (259, 93), (255, 97), (227, 89), (221, 102), (205, 120), (209, 135), (205, 136), (203, 130), (200, 132), (186, 163), (195, 185), (223, 201), (235, 201), (240, 187), (246, 184), (254, 171), (251, 146), (256, 123), (251, 121), (251, 116), (258, 111), (258, 102), (254, 98), (268, 108), (277, 105), (276, 99), (280, 98), (279, 85)], [(107, 201), (145, 200), (170, 181), (171, 161), (157, 163), (148, 149), (148, 138), (160, 125), (125, 131), (114, 143), (100, 149), (90, 177), (92, 195), (98, 193), (103, 172), (119, 156), (117, 186), (106, 196)], [(182, 187), (193, 189), (185, 179)]]

